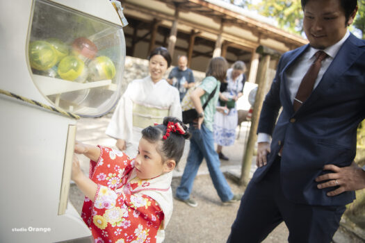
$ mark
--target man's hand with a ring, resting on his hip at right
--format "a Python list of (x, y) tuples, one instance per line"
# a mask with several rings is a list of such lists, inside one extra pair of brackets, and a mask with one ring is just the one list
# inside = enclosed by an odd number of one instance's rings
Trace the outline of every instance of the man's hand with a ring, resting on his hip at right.
[[(325, 165), (323, 170), (334, 171), (316, 178), (318, 189), (335, 187), (336, 190), (327, 192), (327, 196), (336, 196), (342, 192), (360, 190), (365, 188), (365, 171), (358, 167), (355, 162), (348, 167), (337, 167), (336, 165)], [(323, 182), (326, 181), (326, 182)]]

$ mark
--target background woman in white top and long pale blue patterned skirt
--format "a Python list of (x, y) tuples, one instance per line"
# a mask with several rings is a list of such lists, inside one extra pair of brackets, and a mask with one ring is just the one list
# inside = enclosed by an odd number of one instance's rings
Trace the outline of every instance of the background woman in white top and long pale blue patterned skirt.
[(222, 146), (231, 146), (234, 144), (236, 137), (236, 127), (238, 123), (238, 113), (236, 109), (236, 101), (243, 95), (243, 86), (245, 85), (246, 77), (245, 62), (236, 61), (232, 68), (227, 70), (227, 83), (220, 86), (219, 99), (226, 102), (229, 100), (234, 102), (233, 107), (229, 108), (229, 112), (216, 112), (214, 115), (214, 142), (217, 144), (217, 153), (221, 160), (229, 160), (222, 153)]

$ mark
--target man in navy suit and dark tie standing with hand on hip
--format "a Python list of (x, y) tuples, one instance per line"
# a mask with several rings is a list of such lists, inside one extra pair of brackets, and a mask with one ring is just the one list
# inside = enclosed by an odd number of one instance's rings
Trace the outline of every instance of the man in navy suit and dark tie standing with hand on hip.
[(302, 0), (302, 9), (309, 44), (279, 61), (259, 120), (258, 168), (228, 242), (261, 242), (282, 221), (289, 242), (331, 242), (352, 190), (364, 187), (349, 178), (365, 178), (352, 164), (365, 118), (365, 42), (347, 29), (357, 1)]

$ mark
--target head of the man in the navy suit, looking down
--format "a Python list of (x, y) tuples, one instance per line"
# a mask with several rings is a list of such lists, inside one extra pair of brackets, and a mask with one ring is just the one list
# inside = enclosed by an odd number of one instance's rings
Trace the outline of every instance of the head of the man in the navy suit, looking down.
[(305, 34), (316, 49), (336, 44), (346, 34), (347, 24), (354, 20), (356, 11), (346, 23), (345, 11), (339, 0), (309, 0), (304, 8)]

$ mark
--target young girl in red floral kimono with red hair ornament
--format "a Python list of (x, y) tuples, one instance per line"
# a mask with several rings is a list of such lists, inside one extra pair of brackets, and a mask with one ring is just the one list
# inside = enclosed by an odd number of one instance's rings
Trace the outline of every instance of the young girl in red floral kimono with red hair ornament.
[(74, 156), (72, 180), (86, 195), (81, 217), (95, 242), (163, 242), (172, 214), (172, 170), (190, 137), (179, 119), (142, 131), (136, 158), (104, 146), (76, 142), (90, 158), (88, 178)]

